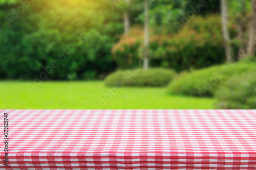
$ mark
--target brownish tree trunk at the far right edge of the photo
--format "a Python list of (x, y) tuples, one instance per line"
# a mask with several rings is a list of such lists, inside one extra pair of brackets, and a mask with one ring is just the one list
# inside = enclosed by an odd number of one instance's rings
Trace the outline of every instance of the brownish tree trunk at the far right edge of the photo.
[(256, 0), (251, 0), (251, 23), (249, 31), (249, 43), (247, 56), (253, 56), (255, 53), (255, 36), (256, 36)]

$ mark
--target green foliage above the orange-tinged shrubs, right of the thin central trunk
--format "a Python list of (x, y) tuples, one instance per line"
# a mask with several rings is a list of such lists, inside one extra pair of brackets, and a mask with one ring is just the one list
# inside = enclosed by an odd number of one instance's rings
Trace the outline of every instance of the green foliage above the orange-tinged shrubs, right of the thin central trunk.
[[(200, 7), (199, 5), (203, 7)], [(220, 11), (220, 1), (155, 0), (150, 1), (150, 9), (150, 24), (151, 27), (155, 28), (155, 31), (165, 28), (166, 32), (177, 32), (174, 25), (176, 21), (181, 21), (184, 17), (189, 17), (191, 12), (195, 15), (202, 16), (216, 14)], [(143, 23), (143, 13), (138, 16), (138, 20)]]

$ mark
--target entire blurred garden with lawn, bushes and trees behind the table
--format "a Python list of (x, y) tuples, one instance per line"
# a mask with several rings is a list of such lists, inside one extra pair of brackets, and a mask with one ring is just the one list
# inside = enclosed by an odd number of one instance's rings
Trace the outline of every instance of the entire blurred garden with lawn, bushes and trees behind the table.
[(256, 109), (256, 0), (0, 0), (1, 109)]

